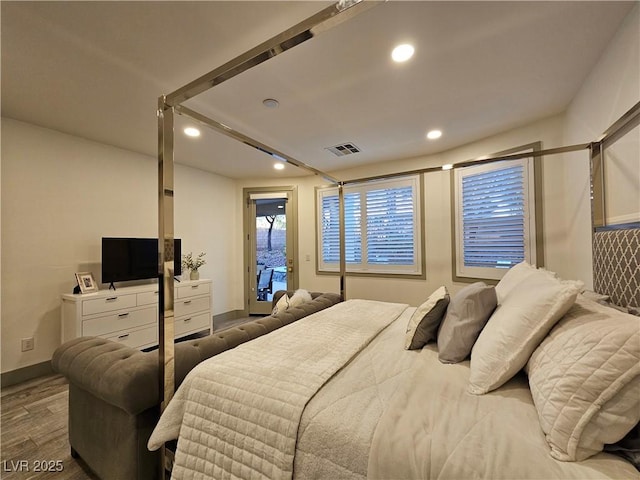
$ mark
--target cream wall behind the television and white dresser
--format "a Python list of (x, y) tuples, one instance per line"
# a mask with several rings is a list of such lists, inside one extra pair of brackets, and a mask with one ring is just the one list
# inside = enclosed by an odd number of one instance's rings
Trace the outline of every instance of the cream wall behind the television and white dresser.
[[(157, 161), (11, 119), (2, 121), (2, 371), (47, 361), (60, 344), (60, 294), (74, 273), (100, 281), (103, 236), (155, 237)], [(237, 230), (235, 184), (176, 166), (175, 235), (207, 252), (213, 312), (229, 302)], [(240, 257), (241, 258), (241, 257)], [(20, 340), (35, 337), (35, 349)]]

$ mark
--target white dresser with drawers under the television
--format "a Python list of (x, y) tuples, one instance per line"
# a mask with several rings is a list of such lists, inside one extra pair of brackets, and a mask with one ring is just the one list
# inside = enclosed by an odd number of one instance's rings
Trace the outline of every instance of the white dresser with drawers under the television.
[[(175, 337), (213, 332), (211, 280), (174, 284)], [(133, 348), (158, 344), (156, 284), (62, 295), (62, 342), (96, 336)]]

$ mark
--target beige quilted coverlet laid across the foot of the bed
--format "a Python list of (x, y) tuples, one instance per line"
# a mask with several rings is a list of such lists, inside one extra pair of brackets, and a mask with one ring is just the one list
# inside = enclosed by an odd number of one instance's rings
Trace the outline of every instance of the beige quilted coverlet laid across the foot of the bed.
[(202, 362), (149, 448), (178, 438), (172, 478), (292, 478), (305, 405), (407, 305), (348, 300)]

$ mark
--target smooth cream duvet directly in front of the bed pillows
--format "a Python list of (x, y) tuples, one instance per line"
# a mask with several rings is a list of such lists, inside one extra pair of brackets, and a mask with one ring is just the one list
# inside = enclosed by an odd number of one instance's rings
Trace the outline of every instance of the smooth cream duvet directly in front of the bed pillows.
[(640, 478), (606, 453), (552, 458), (524, 373), (486, 395), (467, 393), (468, 384), (468, 361), (442, 364), (435, 345), (419, 352), (376, 427), (368, 478)]

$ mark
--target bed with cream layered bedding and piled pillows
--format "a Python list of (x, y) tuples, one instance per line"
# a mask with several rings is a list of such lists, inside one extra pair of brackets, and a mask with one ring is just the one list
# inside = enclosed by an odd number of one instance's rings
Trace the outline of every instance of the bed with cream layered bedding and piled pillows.
[(176, 479), (637, 479), (602, 451), (640, 420), (640, 317), (608, 299), (523, 263), (419, 307), (348, 300), (203, 362), (149, 446), (178, 439)]

